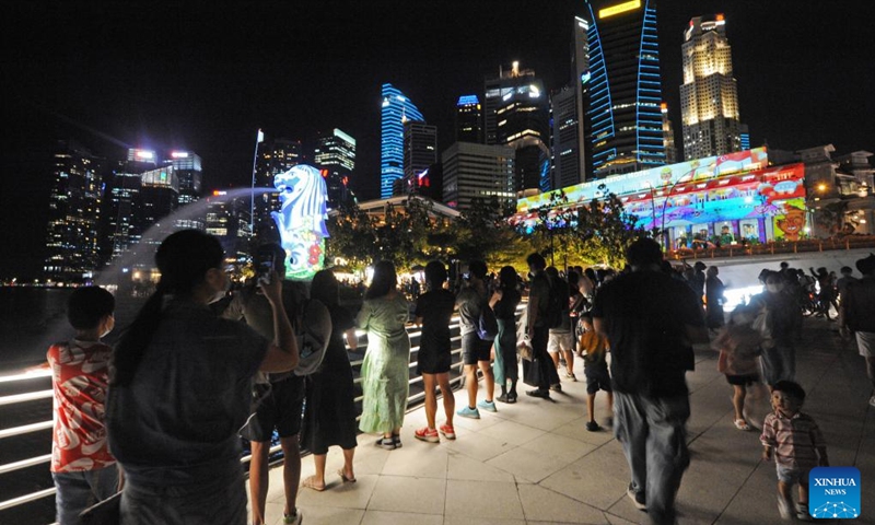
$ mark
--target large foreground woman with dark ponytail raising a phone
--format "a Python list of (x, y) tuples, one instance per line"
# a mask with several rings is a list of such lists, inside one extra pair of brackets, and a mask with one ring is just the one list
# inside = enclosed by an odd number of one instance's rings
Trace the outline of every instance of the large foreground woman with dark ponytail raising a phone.
[[(246, 523), (237, 432), (257, 371), (298, 365), (276, 272), (261, 290), (275, 341), (217, 317), (229, 278), (212, 235), (176, 232), (155, 254), (161, 280), (113, 354), (109, 447), (125, 471), (121, 523)], [(289, 510), (294, 516), (295, 510)]]

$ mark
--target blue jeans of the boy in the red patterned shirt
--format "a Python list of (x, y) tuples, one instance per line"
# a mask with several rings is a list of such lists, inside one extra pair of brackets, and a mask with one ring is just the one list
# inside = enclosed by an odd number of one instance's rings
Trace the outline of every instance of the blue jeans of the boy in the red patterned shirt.
[(55, 508), (60, 525), (79, 523), (79, 514), (118, 490), (115, 466), (79, 472), (51, 472), (55, 480)]

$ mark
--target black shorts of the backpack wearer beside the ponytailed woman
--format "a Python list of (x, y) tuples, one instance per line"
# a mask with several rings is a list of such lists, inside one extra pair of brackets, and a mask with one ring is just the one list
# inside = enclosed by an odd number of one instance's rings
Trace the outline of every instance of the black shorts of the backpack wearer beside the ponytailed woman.
[(256, 384), (253, 402), (261, 401), (240, 435), (259, 443), (270, 441), (273, 429), (280, 438), (296, 435), (301, 432), (305, 394), (304, 378), (294, 375), (277, 383)]

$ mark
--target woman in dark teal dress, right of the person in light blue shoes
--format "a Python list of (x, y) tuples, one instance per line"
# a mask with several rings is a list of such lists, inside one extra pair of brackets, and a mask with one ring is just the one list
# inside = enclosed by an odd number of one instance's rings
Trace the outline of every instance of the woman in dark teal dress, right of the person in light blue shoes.
[[(516, 402), (516, 382), (520, 368), (516, 364), (516, 306), (523, 300), (516, 289), (518, 279), (512, 266), (505, 266), (499, 272), (499, 289), (489, 300), (489, 306), (495, 312), (499, 322), (499, 334), (495, 337), (495, 362), (492, 369), (495, 384), (501, 387), (497, 399), (501, 402)], [(511, 387), (508, 388), (508, 382)]]

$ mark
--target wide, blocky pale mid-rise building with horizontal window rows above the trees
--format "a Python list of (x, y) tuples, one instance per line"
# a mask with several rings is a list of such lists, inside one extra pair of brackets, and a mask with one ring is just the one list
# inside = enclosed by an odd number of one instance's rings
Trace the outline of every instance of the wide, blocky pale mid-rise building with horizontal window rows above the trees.
[(513, 148), (456, 142), (441, 158), (446, 206), (467, 210), (476, 198), (497, 197), (504, 207), (516, 198), (513, 188), (516, 151)]

